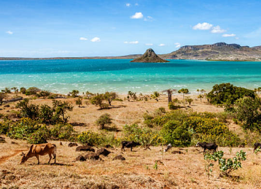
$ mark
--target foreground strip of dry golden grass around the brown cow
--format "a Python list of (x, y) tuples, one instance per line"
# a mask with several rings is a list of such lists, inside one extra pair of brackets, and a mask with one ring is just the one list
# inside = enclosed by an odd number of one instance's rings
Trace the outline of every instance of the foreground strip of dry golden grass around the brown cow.
[[(11, 141), (17, 144), (11, 144)], [(29, 144), (24, 141), (10, 140), (0, 147), (0, 186), (12, 189), (260, 189), (261, 155), (255, 155), (252, 148), (220, 147), (224, 157), (231, 158), (243, 149), (247, 153), (242, 169), (233, 173), (232, 178), (220, 177), (214, 169), (208, 179), (203, 160), (203, 149), (173, 148), (183, 154), (164, 153), (161, 147), (143, 147), (121, 152), (120, 148), (108, 149), (112, 153), (102, 160), (75, 161), (78, 155), (75, 148), (68, 147), (69, 142), (49, 141), (57, 148), (57, 164), (48, 165), (48, 156), (30, 158), (20, 165), (21, 150), (26, 152)], [(95, 148), (97, 149), (97, 148)], [(123, 155), (126, 160), (115, 160), (116, 155)], [(154, 169), (155, 161), (158, 170)], [(51, 161), (53, 162), (53, 161)]]

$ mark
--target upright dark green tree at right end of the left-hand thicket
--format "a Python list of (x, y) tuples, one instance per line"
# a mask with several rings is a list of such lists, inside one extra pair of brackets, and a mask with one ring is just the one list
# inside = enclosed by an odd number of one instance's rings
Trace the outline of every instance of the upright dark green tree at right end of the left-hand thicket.
[(73, 105), (65, 101), (62, 102), (60, 100), (53, 100), (53, 119), (56, 123), (59, 122), (60, 116), (62, 116), (63, 123), (67, 123), (68, 119), (70, 118), (70, 116), (65, 117), (64, 115), (67, 110), (72, 111)]

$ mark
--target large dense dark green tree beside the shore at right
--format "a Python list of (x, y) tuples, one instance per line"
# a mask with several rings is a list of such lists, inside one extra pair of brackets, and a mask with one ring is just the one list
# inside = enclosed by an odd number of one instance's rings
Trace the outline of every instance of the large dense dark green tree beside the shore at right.
[(236, 87), (230, 83), (214, 85), (212, 91), (207, 94), (207, 98), (210, 99), (212, 104), (234, 104), (237, 99), (244, 96), (255, 98), (255, 93), (253, 90)]

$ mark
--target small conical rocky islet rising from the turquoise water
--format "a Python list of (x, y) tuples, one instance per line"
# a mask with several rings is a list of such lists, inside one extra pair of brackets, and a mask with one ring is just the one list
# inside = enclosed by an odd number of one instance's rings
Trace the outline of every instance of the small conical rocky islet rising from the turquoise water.
[(168, 63), (162, 58), (160, 58), (153, 49), (149, 48), (146, 52), (139, 58), (131, 61), (132, 63)]

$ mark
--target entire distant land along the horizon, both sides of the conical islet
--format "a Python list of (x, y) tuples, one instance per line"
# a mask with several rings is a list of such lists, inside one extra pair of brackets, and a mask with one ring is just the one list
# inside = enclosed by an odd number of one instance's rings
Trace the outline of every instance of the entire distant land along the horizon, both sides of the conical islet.
[[(135, 59), (142, 54), (116, 57), (55, 57), (55, 58), (6, 58), (0, 60), (45, 60), (45, 59)], [(224, 42), (212, 45), (183, 46), (168, 54), (158, 54), (162, 59), (187, 59), (208, 61), (261, 61), (261, 46), (248, 47)]]

